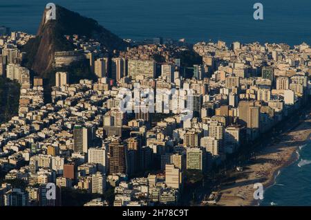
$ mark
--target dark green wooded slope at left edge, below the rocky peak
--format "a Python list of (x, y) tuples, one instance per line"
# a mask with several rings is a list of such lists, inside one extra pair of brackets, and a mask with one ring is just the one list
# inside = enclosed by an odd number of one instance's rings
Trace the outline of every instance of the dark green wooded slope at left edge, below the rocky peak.
[(0, 123), (17, 116), (19, 111), (20, 85), (0, 77)]

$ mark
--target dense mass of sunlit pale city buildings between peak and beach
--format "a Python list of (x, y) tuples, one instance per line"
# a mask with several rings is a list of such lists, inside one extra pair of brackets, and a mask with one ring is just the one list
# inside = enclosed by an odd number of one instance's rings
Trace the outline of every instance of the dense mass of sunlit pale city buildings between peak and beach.
[[(10, 47), (10, 37), (5, 41)], [(183, 66), (187, 62), (176, 59), (179, 46), (144, 45), (107, 58), (100, 44), (79, 43), (73, 53), (57, 53), (57, 65), (89, 59), (98, 79), (71, 84), (69, 73), (57, 72), (50, 103), (44, 102), (44, 79), (28, 82), (13, 52), (1, 53), (6, 76), (28, 86), (21, 86), (18, 116), (0, 125), (1, 172), (27, 188), (1, 185), (0, 205), (59, 205), (61, 193), (53, 203), (42, 196), (48, 183), (90, 194), (113, 189), (113, 203), (85, 205), (181, 204), (186, 178), (210, 174), (310, 94), (311, 49), (305, 45), (198, 43), (194, 51), (202, 63)], [(154, 91), (154, 109), (161, 113), (144, 111), (149, 106), (141, 103), (131, 106), (139, 111), (121, 111), (119, 92), (134, 95), (135, 84)], [(166, 98), (161, 89), (178, 95)], [(193, 93), (180, 97), (183, 89)], [(182, 120), (185, 104), (194, 114)]]

